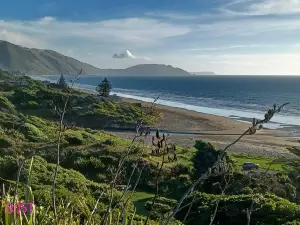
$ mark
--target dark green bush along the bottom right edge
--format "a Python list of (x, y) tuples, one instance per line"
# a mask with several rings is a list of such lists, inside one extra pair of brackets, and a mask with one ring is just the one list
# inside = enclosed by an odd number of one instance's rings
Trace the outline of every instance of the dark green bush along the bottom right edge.
[[(198, 201), (193, 204), (188, 217), (187, 225), (208, 224), (219, 201), (218, 211), (214, 224), (245, 224), (246, 209), (255, 201), (251, 215), (251, 225), (254, 224), (285, 224), (300, 218), (300, 206), (275, 195), (250, 194), (250, 195), (212, 195), (197, 193)], [(189, 196), (183, 203), (188, 204), (194, 195)], [(183, 220), (188, 207), (180, 211), (176, 218)], [(200, 213), (199, 213), (200, 212)], [(224, 223), (226, 221), (226, 223)]]

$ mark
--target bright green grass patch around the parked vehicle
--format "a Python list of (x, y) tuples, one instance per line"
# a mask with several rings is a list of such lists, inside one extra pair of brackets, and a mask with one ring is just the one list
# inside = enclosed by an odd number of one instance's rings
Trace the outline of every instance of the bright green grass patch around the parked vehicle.
[[(268, 169), (276, 171), (284, 171), (283, 166), (287, 163), (286, 159), (267, 158), (257, 155), (247, 154), (230, 154), (233, 160), (236, 161), (238, 166), (242, 166), (245, 162), (253, 162), (259, 164), (261, 169)], [(275, 161), (274, 161), (275, 160)]]

